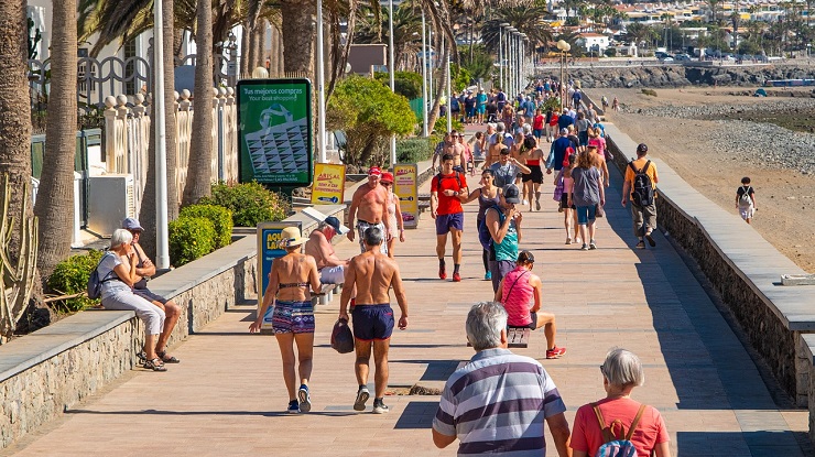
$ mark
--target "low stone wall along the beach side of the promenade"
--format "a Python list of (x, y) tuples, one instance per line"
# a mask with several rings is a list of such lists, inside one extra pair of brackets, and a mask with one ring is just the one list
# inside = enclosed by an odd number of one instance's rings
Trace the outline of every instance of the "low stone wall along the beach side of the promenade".
[[(612, 134), (608, 146), (624, 173), (635, 156), (637, 143)], [(815, 331), (815, 308), (806, 306), (813, 289), (774, 285), (782, 273), (803, 271), (740, 218), (691, 188), (659, 160), (654, 162), (661, 179), (656, 199), (660, 228), (698, 262), (784, 390), (796, 404), (807, 405), (813, 399), (812, 358), (807, 360), (798, 340), (802, 334)], [(671, 181), (667, 184), (663, 184), (665, 174)]]

